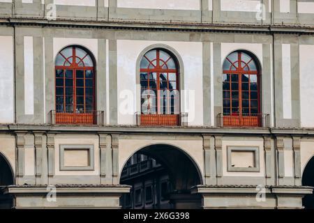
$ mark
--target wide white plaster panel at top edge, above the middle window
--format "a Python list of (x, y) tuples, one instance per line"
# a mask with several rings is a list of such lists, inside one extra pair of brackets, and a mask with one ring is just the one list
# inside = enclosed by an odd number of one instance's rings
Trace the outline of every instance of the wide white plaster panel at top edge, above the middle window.
[(200, 10), (200, 0), (117, 0), (117, 7)]

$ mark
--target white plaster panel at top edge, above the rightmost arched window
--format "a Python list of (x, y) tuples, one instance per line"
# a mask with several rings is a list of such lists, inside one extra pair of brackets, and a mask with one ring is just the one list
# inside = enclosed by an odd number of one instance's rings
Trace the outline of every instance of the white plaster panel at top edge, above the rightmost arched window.
[(220, 10), (259, 12), (260, 0), (220, 0)]

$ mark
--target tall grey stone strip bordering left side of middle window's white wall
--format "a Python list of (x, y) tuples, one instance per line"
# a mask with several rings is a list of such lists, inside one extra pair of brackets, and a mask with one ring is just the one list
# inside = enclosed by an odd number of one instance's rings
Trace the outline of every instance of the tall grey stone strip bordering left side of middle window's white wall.
[(109, 106), (110, 124), (118, 123), (117, 40), (109, 40)]

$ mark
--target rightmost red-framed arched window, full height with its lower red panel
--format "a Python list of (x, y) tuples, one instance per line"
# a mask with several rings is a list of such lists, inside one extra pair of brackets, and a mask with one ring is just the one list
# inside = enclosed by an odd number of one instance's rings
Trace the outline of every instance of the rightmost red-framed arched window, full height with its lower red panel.
[(259, 125), (259, 114), (260, 72), (257, 63), (246, 52), (232, 52), (223, 63), (224, 125)]

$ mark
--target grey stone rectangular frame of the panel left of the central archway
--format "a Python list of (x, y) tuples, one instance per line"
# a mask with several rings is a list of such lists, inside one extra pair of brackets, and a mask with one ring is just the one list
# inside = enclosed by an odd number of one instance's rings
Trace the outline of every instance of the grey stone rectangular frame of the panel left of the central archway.
[[(60, 145), (59, 161), (61, 171), (92, 171), (94, 170), (94, 146), (93, 145)], [(89, 150), (89, 165), (86, 167), (68, 167), (64, 165), (64, 151), (66, 149), (71, 150)]]

